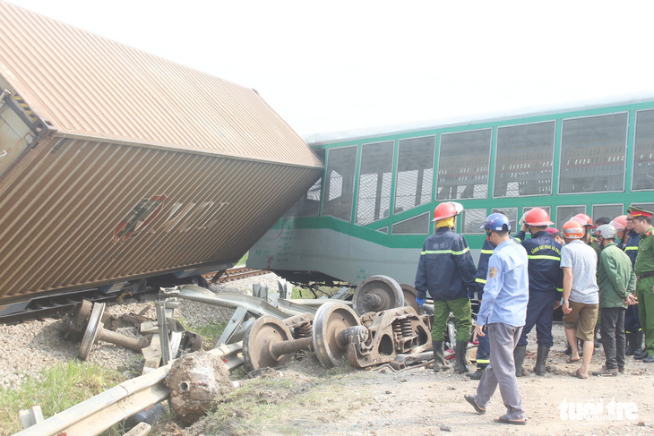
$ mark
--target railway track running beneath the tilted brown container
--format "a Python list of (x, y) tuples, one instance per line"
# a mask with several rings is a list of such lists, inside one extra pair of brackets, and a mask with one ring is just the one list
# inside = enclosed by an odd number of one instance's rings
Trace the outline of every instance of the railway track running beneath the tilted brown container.
[[(223, 272), (223, 274), (215, 281), (217, 285), (227, 283), (230, 281), (238, 280), (241, 278), (250, 278), (254, 276), (261, 276), (268, 274), (270, 271), (264, 269), (250, 269), (250, 268), (231, 268)], [(203, 274), (207, 284), (211, 284), (217, 272)], [(156, 287), (155, 287), (156, 288)], [(0, 324), (16, 324), (22, 321), (39, 320), (47, 317), (58, 317), (73, 312), (75, 306), (82, 303), (82, 300), (89, 300), (91, 303), (109, 303), (124, 298), (125, 295), (136, 296), (146, 293), (154, 292), (145, 284), (145, 280), (141, 280), (134, 286), (126, 288), (123, 292), (116, 292), (112, 294), (105, 294), (99, 292), (98, 289), (85, 289), (82, 291), (65, 292), (57, 295), (42, 295), (26, 301), (21, 310), (11, 313), (3, 312), (3, 307), (0, 306)]]

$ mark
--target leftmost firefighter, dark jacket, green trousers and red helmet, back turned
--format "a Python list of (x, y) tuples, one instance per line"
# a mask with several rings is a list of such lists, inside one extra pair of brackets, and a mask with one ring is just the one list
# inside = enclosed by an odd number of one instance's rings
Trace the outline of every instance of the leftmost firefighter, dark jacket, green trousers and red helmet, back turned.
[(445, 369), (443, 332), (447, 328), (450, 312), (457, 326), (454, 371), (469, 372), (466, 364), (472, 328), (469, 295), (474, 295), (476, 269), (468, 242), (454, 231), (461, 210), (463, 207), (452, 201), (436, 206), (432, 220), (435, 222), (435, 233), (426, 238), (417, 265), (417, 303), (425, 303), (427, 292), (434, 300), (432, 344), (435, 372)]

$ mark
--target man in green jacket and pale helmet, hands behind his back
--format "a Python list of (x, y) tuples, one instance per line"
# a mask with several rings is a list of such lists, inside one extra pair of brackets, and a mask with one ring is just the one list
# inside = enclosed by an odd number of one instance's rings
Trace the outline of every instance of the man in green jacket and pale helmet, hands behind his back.
[(624, 372), (624, 312), (635, 299), (632, 294), (636, 291), (636, 276), (629, 256), (615, 244), (615, 227), (610, 224), (598, 226), (595, 237), (601, 250), (598, 262), (599, 318), (606, 363), (592, 374), (615, 376)]

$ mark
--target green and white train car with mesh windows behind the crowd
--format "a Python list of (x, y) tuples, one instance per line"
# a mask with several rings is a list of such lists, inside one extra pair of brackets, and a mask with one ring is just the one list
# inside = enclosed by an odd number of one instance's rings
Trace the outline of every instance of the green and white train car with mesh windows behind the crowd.
[(516, 228), (534, 207), (561, 228), (573, 215), (654, 208), (654, 92), (577, 107), (305, 138), (323, 176), (250, 250), (250, 268), (293, 282), (373, 275), (413, 284), (440, 201), (464, 210), (457, 231), (477, 261), (484, 218)]

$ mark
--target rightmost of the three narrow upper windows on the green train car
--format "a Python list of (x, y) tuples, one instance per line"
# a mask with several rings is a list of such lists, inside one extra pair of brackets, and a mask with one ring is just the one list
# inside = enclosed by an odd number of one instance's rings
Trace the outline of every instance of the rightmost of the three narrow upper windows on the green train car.
[(400, 140), (395, 213), (432, 201), (436, 137)]

